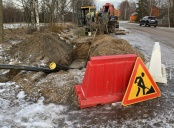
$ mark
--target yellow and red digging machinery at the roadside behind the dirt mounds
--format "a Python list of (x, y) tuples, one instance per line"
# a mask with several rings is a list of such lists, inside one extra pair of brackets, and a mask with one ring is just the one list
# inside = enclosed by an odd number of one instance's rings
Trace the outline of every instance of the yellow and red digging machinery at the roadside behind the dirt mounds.
[(102, 9), (96, 12), (95, 6), (82, 6), (78, 11), (78, 26), (85, 26), (85, 34), (98, 30), (103, 33), (114, 33), (119, 28), (119, 14), (110, 3), (103, 5)]

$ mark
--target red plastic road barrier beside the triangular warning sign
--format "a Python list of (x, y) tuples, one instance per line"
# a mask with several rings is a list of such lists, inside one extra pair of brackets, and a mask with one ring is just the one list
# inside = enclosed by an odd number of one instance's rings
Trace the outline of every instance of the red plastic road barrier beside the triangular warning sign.
[(134, 54), (91, 57), (82, 84), (75, 86), (80, 107), (121, 101), (136, 58)]

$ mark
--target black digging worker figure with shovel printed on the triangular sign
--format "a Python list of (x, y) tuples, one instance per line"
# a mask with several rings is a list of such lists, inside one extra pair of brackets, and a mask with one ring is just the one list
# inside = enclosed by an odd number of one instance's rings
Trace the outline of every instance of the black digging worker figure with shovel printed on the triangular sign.
[[(136, 97), (138, 97), (139, 93), (140, 93), (140, 90), (142, 89), (143, 91), (143, 95), (146, 95), (146, 94), (150, 94), (150, 93), (154, 93), (155, 90), (154, 88), (151, 86), (150, 88), (147, 88), (144, 84), (144, 81), (143, 81), (143, 77), (144, 77), (144, 72), (141, 73), (141, 76), (137, 76), (134, 83), (136, 84), (137, 83), (137, 86), (138, 86), (138, 91), (137, 91), (137, 94), (136, 94)], [(148, 89), (148, 91), (145, 93), (145, 89)]]

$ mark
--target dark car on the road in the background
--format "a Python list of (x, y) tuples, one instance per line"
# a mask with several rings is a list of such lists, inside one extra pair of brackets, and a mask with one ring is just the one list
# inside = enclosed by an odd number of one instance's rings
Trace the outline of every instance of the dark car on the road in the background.
[(156, 27), (158, 25), (158, 21), (155, 16), (145, 16), (140, 20), (140, 26), (141, 25)]

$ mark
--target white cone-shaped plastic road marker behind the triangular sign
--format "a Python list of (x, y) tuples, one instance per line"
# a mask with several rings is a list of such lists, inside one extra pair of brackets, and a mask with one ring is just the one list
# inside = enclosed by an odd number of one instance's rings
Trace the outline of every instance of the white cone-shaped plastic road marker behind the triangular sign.
[(155, 42), (150, 62), (146, 64), (155, 82), (167, 83), (166, 70), (161, 63), (161, 49), (159, 42)]

